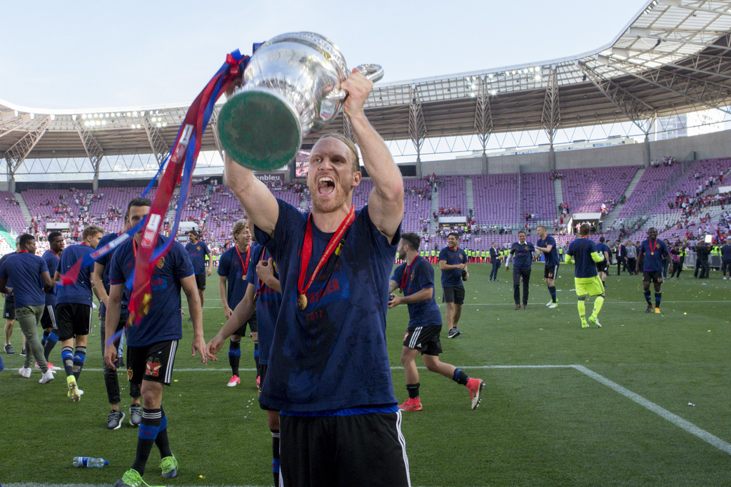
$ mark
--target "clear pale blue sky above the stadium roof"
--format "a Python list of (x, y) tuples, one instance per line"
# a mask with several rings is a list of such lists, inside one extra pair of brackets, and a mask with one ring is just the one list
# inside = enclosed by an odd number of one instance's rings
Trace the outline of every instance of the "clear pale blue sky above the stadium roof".
[[(646, 0), (4, 2), (0, 99), (91, 109), (189, 104), (236, 48), (314, 31), (382, 83), (539, 63), (611, 42)], [(367, 5), (367, 7), (366, 7)]]

